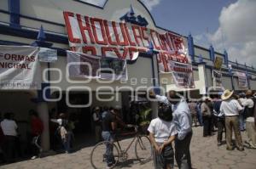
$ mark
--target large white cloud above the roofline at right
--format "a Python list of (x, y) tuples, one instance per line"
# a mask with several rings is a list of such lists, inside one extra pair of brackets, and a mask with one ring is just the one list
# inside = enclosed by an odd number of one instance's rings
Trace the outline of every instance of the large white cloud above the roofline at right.
[(195, 42), (199, 42), (200, 45), (205, 42), (212, 43), (221, 53), (226, 48), (231, 60), (237, 59), (241, 64), (246, 62), (247, 65), (256, 65), (255, 19), (256, 1), (238, 0), (222, 9), (217, 31), (213, 34), (203, 33), (195, 36)]

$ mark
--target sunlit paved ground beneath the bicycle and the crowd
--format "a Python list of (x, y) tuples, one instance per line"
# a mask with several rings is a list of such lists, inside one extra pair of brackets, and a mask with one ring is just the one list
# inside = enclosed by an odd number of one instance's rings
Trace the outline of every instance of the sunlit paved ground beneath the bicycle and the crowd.
[[(242, 133), (243, 141), (246, 140), (246, 132)], [(129, 139), (123, 140), (121, 143), (125, 145)], [(0, 168), (92, 168), (90, 166), (90, 150), (92, 147), (86, 147), (79, 151), (67, 155), (53, 155), (42, 159), (21, 161), (14, 164), (0, 166)], [(129, 159), (120, 166), (121, 168), (153, 168), (153, 162), (150, 161), (144, 165), (140, 165), (134, 155), (134, 149), (129, 152)], [(196, 169), (255, 169), (256, 166), (256, 149), (245, 149), (245, 151), (228, 151), (225, 145), (220, 147), (216, 143), (216, 135), (208, 138), (202, 138), (202, 127), (194, 127), (194, 135), (191, 144), (191, 156), (193, 167)], [(118, 167), (118, 168), (120, 168)], [(175, 167), (177, 168), (177, 166)]]

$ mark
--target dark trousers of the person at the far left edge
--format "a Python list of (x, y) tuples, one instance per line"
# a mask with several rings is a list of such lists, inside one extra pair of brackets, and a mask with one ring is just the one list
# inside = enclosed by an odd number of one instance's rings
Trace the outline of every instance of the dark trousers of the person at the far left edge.
[(16, 137), (15, 136), (4, 136), (4, 144), (3, 144), (3, 152), (4, 158), (7, 162), (14, 162), (15, 161), (15, 143)]

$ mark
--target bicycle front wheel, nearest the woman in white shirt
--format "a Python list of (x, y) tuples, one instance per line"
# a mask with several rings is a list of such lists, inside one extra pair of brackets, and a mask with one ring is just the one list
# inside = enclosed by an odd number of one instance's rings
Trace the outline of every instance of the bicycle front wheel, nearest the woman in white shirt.
[(145, 163), (152, 159), (152, 146), (147, 136), (139, 136), (135, 144), (135, 155), (137, 160)]

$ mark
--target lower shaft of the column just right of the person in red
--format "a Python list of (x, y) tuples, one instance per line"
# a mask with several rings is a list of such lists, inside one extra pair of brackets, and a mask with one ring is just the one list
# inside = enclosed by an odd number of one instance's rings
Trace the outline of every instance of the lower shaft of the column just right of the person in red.
[(44, 124), (44, 131), (41, 135), (41, 146), (43, 151), (49, 150), (49, 113), (47, 102), (38, 102), (38, 115)]

